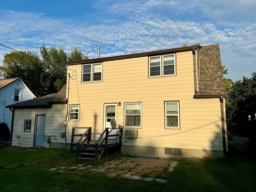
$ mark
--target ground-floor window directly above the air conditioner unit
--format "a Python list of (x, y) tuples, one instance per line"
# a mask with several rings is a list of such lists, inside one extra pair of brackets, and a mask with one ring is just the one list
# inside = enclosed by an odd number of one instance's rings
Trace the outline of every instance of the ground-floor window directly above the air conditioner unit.
[(141, 103), (125, 103), (125, 127), (141, 128)]

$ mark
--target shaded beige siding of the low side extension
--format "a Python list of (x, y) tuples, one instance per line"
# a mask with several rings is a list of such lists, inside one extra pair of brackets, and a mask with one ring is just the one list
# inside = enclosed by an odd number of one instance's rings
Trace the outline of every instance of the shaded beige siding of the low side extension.
[[(44, 133), (50, 136), (51, 142), (64, 143), (64, 138), (60, 137), (60, 132), (65, 132), (62, 122), (66, 117), (66, 105), (54, 104), (52, 108), (43, 109), (16, 109), (14, 118), (14, 129), (12, 135), (12, 146), (32, 147), (35, 130), (35, 114), (46, 116)], [(31, 120), (31, 131), (24, 131), (25, 120)], [(18, 138), (18, 137), (19, 138)], [(55, 136), (55, 140), (54, 140)]]

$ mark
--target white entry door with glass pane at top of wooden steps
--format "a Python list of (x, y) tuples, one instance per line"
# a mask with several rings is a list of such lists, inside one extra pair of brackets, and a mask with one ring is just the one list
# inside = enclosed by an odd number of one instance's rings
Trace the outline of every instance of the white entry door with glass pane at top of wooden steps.
[[(104, 127), (105, 128), (112, 128), (110, 124), (110, 120), (114, 119), (115, 121), (117, 120), (116, 114), (117, 114), (117, 103), (112, 103), (112, 104), (104, 104)], [(109, 129), (110, 131), (111, 129)], [(117, 130), (114, 129), (110, 132), (109, 135), (114, 135), (117, 133)], [(109, 137), (108, 139), (116, 139), (116, 136)]]

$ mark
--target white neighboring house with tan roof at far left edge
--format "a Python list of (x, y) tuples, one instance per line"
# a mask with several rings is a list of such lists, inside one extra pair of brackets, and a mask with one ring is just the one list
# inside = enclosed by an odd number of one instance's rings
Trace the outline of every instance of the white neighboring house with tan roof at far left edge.
[(33, 98), (36, 96), (20, 77), (0, 80), (0, 122), (6, 123), (11, 129), (12, 111), (5, 107)]

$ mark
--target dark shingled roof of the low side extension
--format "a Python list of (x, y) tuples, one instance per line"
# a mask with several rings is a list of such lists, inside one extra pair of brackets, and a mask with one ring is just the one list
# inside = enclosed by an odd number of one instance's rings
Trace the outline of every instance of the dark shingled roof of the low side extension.
[(64, 85), (57, 93), (34, 98), (24, 102), (6, 106), (6, 108), (51, 108), (52, 104), (66, 104), (66, 85)]

